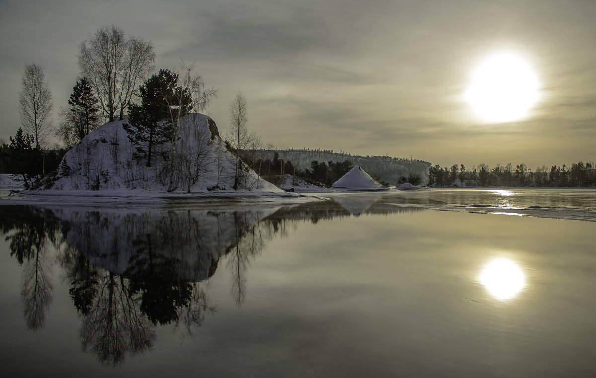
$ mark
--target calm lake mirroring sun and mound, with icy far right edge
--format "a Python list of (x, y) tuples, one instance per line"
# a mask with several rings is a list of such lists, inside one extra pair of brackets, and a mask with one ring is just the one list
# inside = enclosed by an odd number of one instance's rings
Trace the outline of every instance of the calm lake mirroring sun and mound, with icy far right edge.
[(596, 190), (324, 195), (0, 202), (2, 374), (594, 376)]

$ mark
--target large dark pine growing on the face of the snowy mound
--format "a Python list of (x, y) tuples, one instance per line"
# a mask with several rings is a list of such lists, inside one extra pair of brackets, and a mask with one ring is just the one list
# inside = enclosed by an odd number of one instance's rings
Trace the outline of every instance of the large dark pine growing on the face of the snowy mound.
[(182, 117), (192, 110), (192, 96), (188, 88), (178, 86), (178, 74), (164, 69), (145, 80), (139, 92), (141, 105), (131, 105), (124, 126), (132, 143), (144, 145), (140, 151), (151, 167), (154, 146), (172, 141), (172, 113)]

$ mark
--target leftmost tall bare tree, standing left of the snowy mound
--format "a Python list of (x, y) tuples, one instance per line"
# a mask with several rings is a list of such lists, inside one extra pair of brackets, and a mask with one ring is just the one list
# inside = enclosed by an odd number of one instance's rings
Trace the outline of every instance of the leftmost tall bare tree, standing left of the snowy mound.
[(52, 105), (52, 95), (41, 66), (37, 64), (25, 66), (18, 105), (23, 130), (33, 135), (36, 148), (42, 148), (45, 139), (52, 132), (50, 115), (54, 105)]

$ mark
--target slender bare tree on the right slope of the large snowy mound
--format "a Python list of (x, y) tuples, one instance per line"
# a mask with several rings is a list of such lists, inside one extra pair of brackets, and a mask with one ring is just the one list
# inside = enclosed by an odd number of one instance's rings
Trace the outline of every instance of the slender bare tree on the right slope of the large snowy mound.
[(234, 101), (229, 105), (229, 113), (229, 129), (226, 132), (226, 140), (228, 140), (235, 150), (234, 190), (237, 190), (242, 175), (240, 152), (246, 148), (249, 142), (249, 132), (246, 127), (249, 121), (248, 105), (246, 103), (246, 97), (241, 92), (238, 92)]

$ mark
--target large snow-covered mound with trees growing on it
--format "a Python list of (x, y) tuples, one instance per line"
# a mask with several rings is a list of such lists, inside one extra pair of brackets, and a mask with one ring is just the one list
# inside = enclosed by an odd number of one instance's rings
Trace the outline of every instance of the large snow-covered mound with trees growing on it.
[(182, 118), (180, 138), (173, 145), (154, 146), (151, 167), (146, 158), (138, 157), (143, 146), (131, 143), (123, 127), (126, 122), (104, 124), (70, 149), (49, 189), (284, 193), (246, 165), (238, 190), (232, 189), (235, 157), (207, 115)]

